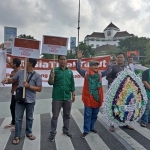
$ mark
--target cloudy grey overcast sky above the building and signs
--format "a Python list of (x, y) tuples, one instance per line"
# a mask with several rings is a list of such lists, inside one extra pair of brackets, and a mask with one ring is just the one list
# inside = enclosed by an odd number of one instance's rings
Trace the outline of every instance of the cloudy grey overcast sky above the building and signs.
[[(121, 31), (150, 37), (150, 0), (80, 0), (80, 41), (103, 32), (112, 21)], [(78, 0), (1, 0), (0, 43), (4, 26), (17, 27), (18, 35), (42, 40), (42, 35), (77, 37)]]

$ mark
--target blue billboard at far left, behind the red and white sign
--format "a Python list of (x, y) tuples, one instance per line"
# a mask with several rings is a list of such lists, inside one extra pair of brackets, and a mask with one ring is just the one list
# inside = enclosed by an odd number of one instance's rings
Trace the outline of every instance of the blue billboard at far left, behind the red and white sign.
[(17, 28), (4, 27), (4, 42), (9, 41), (13, 37), (17, 37)]

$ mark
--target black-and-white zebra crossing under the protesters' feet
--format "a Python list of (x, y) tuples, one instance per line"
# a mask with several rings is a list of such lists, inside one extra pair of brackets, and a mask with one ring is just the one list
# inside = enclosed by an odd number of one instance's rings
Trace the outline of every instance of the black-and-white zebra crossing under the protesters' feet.
[(54, 142), (48, 141), (50, 132), (51, 113), (34, 115), (33, 134), (36, 139), (31, 141), (25, 137), (25, 118), (23, 121), (22, 136), (18, 145), (12, 145), (14, 133), (4, 129), (11, 118), (0, 119), (0, 150), (150, 150), (150, 125), (142, 128), (134, 123), (135, 130), (116, 128), (116, 132), (108, 131), (109, 125), (99, 112), (95, 129), (98, 134), (89, 133), (81, 139), (83, 132), (83, 110), (74, 109), (71, 112), (70, 139), (62, 134), (62, 113), (58, 119), (57, 135)]

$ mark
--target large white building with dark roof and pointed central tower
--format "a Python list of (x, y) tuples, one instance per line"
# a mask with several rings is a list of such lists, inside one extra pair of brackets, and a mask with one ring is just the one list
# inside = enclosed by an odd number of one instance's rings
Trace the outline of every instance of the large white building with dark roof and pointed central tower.
[(133, 34), (129, 34), (127, 31), (120, 31), (120, 29), (111, 22), (103, 32), (93, 32), (91, 35), (87, 35), (84, 38), (84, 42), (87, 45), (92, 45), (93, 48), (107, 44), (118, 46), (120, 39), (132, 36)]

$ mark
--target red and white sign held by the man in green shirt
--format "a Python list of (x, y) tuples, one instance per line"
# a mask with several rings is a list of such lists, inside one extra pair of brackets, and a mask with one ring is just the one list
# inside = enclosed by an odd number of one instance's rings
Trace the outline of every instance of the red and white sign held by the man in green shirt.
[(42, 53), (54, 55), (67, 55), (68, 38), (56, 36), (43, 36)]

